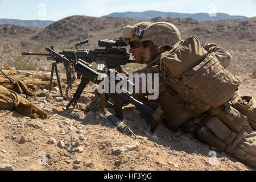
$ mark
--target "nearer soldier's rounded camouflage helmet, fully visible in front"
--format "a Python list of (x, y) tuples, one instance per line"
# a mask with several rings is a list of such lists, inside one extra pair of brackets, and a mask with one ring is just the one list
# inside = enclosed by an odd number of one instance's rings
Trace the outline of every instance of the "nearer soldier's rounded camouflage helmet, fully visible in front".
[(155, 46), (174, 45), (181, 40), (180, 32), (174, 24), (156, 22), (145, 28), (141, 41), (150, 40)]

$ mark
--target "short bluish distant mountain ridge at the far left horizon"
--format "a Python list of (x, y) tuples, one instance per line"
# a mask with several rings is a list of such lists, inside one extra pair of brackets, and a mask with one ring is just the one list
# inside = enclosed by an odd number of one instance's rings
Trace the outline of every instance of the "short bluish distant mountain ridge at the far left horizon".
[(1, 24), (14, 24), (18, 26), (46, 28), (49, 24), (54, 23), (50, 20), (19, 20), (19, 19), (0, 19)]

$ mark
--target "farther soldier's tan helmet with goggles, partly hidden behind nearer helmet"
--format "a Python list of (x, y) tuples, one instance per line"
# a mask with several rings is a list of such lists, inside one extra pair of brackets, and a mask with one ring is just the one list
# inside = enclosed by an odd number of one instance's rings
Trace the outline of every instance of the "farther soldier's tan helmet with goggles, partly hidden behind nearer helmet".
[(134, 24), (133, 26), (126, 26), (123, 28), (122, 34), (121, 34), (121, 38), (124, 42), (129, 42), (129, 41), (134, 41), (134, 40), (139, 40), (137, 35), (133, 35), (133, 29), (134, 27), (142, 27), (143, 29), (146, 28), (147, 26), (149, 26), (150, 24), (152, 24), (151, 22), (140, 22), (137, 24)]

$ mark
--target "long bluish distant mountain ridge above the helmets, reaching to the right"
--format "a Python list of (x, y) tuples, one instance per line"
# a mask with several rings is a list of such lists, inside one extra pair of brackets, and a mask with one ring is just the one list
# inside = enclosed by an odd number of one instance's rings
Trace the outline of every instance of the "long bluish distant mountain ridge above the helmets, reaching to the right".
[(243, 19), (246, 16), (232, 16), (225, 13), (217, 13), (216, 16), (210, 16), (208, 13), (171, 13), (162, 11), (144, 11), (144, 12), (124, 12), (124, 13), (112, 13), (105, 16), (122, 17), (122, 18), (137, 18), (137, 19), (152, 19), (156, 17), (162, 18), (192, 18), (199, 22), (205, 20), (217, 20), (217, 19)]

